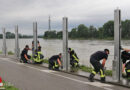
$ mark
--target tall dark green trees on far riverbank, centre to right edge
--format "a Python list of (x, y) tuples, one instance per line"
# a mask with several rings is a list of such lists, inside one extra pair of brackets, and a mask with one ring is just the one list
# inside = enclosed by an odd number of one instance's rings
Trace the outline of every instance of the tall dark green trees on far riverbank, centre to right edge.
[[(130, 38), (130, 20), (122, 21), (121, 33), (123, 39)], [(87, 27), (80, 24), (68, 32), (70, 39), (114, 39), (114, 21), (110, 20), (102, 27), (96, 28), (93, 25)], [(43, 35), (45, 39), (61, 39), (62, 31), (46, 31)]]

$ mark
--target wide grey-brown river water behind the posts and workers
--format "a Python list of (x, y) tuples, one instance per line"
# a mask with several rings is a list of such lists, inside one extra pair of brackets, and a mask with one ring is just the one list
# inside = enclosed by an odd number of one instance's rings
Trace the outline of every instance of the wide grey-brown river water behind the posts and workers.
[[(62, 53), (62, 40), (45, 40), (39, 39), (40, 44), (42, 46), (42, 52), (45, 58), (49, 58), (52, 55), (56, 55), (58, 53)], [(22, 50), (25, 45), (29, 45), (31, 47), (32, 39), (20, 39), (19, 45), (20, 50)], [(104, 50), (108, 48), (110, 50), (110, 55), (106, 62), (106, 68), (112, 69), (112, 60), (114, 60), (114, 41), (109, 40), (69, 40), (69, 47), (73, 48), (77, 53), (80, 64), (90, 66), (89, 63), (90, 55), (98, 50)], [(122, 41), (122, 45), (125, 48), (130, 48), (130, 40)], [(7, 39), (7, 50), (14, 52), (15, 40)], [(0, 39), (0, 51), (2, 51), (2, 39)], [(32, 52), (29, 51), (29, 54)]]

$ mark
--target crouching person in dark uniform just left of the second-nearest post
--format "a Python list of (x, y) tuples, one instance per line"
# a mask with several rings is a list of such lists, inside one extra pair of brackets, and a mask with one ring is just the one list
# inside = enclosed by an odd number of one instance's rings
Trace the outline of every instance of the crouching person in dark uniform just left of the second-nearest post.
[(59, 55), (54, 55), (49, 59), (49, 69), (59, 70), (61, 67), (61, 53)]

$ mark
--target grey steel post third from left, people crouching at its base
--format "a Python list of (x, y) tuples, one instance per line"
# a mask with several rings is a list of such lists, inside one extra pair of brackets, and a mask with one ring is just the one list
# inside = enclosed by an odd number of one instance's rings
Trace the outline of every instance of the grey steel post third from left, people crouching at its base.
[(37, 22), (33, 23), (33, 41), (34, 41), (34, 49), (33, 49), (33, 56), (34, 56), (35, 50), (37, 49)]

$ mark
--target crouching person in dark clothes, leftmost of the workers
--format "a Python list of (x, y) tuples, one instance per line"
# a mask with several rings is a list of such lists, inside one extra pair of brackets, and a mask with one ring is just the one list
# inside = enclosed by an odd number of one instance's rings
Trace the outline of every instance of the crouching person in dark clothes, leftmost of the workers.
[(28, 45), (25, 46), (21, 53), (21, 62), (28, 63), (28, 60), (31, 59), (31, 56), (28, 55), (28, 50), (31, 50)]

